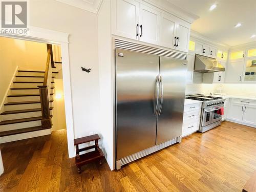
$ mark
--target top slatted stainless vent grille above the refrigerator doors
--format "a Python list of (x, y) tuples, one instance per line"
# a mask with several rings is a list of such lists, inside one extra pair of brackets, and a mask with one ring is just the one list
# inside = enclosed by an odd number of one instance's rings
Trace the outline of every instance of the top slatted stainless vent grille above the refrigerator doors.
[(174, 51), (168, 51), (168, 50), (154, 48), (150, 46), (135, 44), (134, 42), (124, 41), (120, 39), (115, 39), (115, 48), (139, 51), (142, 53), (150, 53), (150, 54), (172, 57), (172, 58), (177, 58), (182, 60), (187, 59), (187, 55), (183, 53), (177, 53)]

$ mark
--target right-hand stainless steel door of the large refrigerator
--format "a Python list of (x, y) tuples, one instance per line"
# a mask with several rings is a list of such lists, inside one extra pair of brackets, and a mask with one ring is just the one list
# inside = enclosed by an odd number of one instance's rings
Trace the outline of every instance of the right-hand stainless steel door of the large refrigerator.
[(184, 111), (186, 61), (160, 57), (160, 108), (157, 144), (181, 136)]

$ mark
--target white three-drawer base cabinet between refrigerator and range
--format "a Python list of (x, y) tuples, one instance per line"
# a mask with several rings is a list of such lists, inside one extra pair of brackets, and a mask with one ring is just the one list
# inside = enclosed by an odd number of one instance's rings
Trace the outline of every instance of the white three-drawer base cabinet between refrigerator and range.
[(202, 103), (188, 104), (184, 106), (182, 137), (199, 130)]

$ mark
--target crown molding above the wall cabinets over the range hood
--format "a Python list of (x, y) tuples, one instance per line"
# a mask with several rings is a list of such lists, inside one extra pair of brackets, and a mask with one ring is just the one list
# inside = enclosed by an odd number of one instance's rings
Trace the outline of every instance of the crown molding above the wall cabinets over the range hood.
[(217, 48), (222, 48), (222, 49), (225, 49), (225, 50), (229, 50), (230, 49), (229, 45), (224, 44), (224, 43), (222, 43), (220, 41), (211, 39), (209, 37), (206, 37), (203, 34), (198, 33), (198, 32), (196, 32), (194, 30), (190, 30), (190, 37), (192, 37), (194, 39), (197, 39), (197, 40), (205, 41), (205, 42), (207, 42), (209, 44), (212, 44), (212, 45), (216, 46)]

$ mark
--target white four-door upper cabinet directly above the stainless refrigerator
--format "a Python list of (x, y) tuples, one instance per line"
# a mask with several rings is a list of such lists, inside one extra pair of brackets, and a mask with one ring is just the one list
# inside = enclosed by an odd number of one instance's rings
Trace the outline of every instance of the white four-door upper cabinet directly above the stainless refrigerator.
[(112, 0), (112, 34), (188, 52), (190, 23), (145, 2)]

